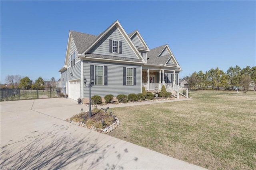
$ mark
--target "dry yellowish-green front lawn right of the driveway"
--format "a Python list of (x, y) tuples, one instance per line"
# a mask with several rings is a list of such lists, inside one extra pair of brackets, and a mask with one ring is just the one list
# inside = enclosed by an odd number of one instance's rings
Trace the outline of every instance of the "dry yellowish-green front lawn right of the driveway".
[(208, 168), (256, 169), (256, 93), (192, 91), (195, 100), (112, 108), (110, 136)]

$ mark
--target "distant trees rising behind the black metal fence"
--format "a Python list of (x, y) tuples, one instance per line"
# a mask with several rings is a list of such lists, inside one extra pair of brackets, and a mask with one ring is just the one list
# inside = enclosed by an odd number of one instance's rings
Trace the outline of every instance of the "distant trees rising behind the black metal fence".
[(28, 76), (22, 78), (21, 75), (7, 75), (5, 81), (7, 83), (6, 86), (1, 85), (1, 88), (42, 89), (45, 87), (56, 87), (56, 79), (54, 77), (48, 81), (43, 80), (42, 77), (38, 77), (33, 82)]

